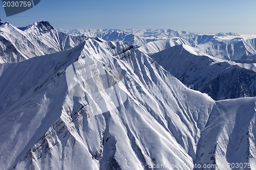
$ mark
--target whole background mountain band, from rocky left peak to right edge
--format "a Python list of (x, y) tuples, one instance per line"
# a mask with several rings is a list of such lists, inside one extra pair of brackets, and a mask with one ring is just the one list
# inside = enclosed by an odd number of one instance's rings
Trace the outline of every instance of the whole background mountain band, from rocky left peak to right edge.
[[(255, 38), (247, 38), (236, 33), (201, 35), (175, 30), (61, 30), (54, 29), (49, 22), (35, 22), (24, 28), (16, 28), (10, 23), (0, 22), (0, 63), (24, 61), (34, 56), (69, 50), (88, 37), (99, 37), (106, 41), (125, 41), (135, 47), (160, 40), (189, 44), (205, 54), (220, 59), (240, 63), (256, 63)], [(158, 41), (158, 42), (157, 42)], [(166, 46), (167, 47), (167, 46)], [(4, 50), (5, 49), (5, 50)], [(156, 50), (156, 48), (155, 48)], [(159, 50), (163, 50), (161, 47)], [(153, 52), (155, 52), (153, 50)]]

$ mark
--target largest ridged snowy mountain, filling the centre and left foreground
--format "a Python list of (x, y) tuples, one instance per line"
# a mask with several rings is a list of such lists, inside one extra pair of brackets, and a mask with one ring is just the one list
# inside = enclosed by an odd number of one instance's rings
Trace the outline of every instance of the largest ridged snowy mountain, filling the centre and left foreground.
[[(102, 63), (95, 69), (111, 76), (122, 73), (125, 83), (118, 86), (127, 100), (120, 107), (96, 114), (86, 98), (69, 93), (65, 70), (81, 59)], [(88, 39), (70, 51), (0, 68), (1, 169), (192, 166), (215, 104), (122, 42)], [(112, 106), (108, 94), (100, 95)]]

